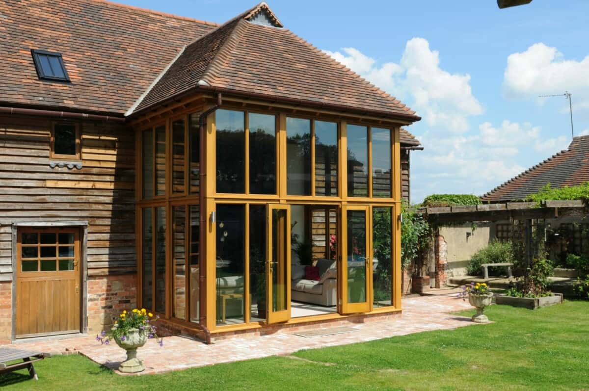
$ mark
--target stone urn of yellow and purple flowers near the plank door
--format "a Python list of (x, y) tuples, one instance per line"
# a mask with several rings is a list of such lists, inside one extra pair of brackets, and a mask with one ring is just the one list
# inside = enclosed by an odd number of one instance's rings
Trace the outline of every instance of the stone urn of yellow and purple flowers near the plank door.
[[(137, 373), (145, 370), (143, 360), (137, 357), (137, 348), (141, 347), (148, 339), (158, 336), (155, 333), (155, 326), (151, 324), (157, 320), (157, 316), (153, 318), (153, 314), (148, 313), (145, 309), (134, 309), (130, 313), (123, 311), (118, 319), (114, 322), (114, 326), (108, 332), (102, 332), (100, 336), (96, 336), (96, 340), (102, 344), (108, 344), (111, 339), (118, 346), (127, 351), (127, 359), (121, 363), (118, 370), (124, 373)], [(163, 346), (163, 339), (159, 340), (160, 346)]]

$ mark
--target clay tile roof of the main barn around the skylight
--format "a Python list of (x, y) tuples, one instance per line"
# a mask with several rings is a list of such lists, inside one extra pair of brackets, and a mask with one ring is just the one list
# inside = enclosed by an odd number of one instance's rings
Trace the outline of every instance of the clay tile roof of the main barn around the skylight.
[[(101, 0), (0, 2), (0, 105), (123, 114), (184, 45), (217, 24)], [(62, 54), (41, 81), (31, 49)]]

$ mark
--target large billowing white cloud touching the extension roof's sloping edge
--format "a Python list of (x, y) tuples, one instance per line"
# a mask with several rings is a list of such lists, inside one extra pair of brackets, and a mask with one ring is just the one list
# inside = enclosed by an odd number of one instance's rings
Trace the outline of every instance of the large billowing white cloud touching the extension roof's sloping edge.
[(469, 74), (451, 74), (440, 68), (439, 52), (429, 48), (423, 38), (412, 38), (399, 64), (380, 66), (358, 49), (329, 52), (337, 61), (362, 75), (401, 101), (410, 96), (430, 128), (459, 134), (469, 129), (469, 117), (482, 114), (483, 108), (472, 94)]

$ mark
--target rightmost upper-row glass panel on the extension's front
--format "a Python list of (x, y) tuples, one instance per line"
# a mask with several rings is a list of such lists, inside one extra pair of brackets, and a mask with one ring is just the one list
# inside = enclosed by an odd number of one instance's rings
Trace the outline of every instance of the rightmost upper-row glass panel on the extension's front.
[(372, 197), (392, 197), (391, 130), (372, 128)]

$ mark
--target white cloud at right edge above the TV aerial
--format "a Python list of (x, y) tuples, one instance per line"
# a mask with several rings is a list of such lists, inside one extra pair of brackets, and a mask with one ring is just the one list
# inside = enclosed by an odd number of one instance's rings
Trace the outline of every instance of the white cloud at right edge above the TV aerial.
[[(538, 95), (573, 94), (573, 111), (589, 110), (589, 56), (565, 59), (557, 48), (538, 43), (507, 58), (503, 87), (512, 98), (537, 99)], [(538, 98), (544, 104), (546, 98)], [(564, 107), (566, 105), (566, 107)], [(562, 112), (568, 104), (562, 99)]]

